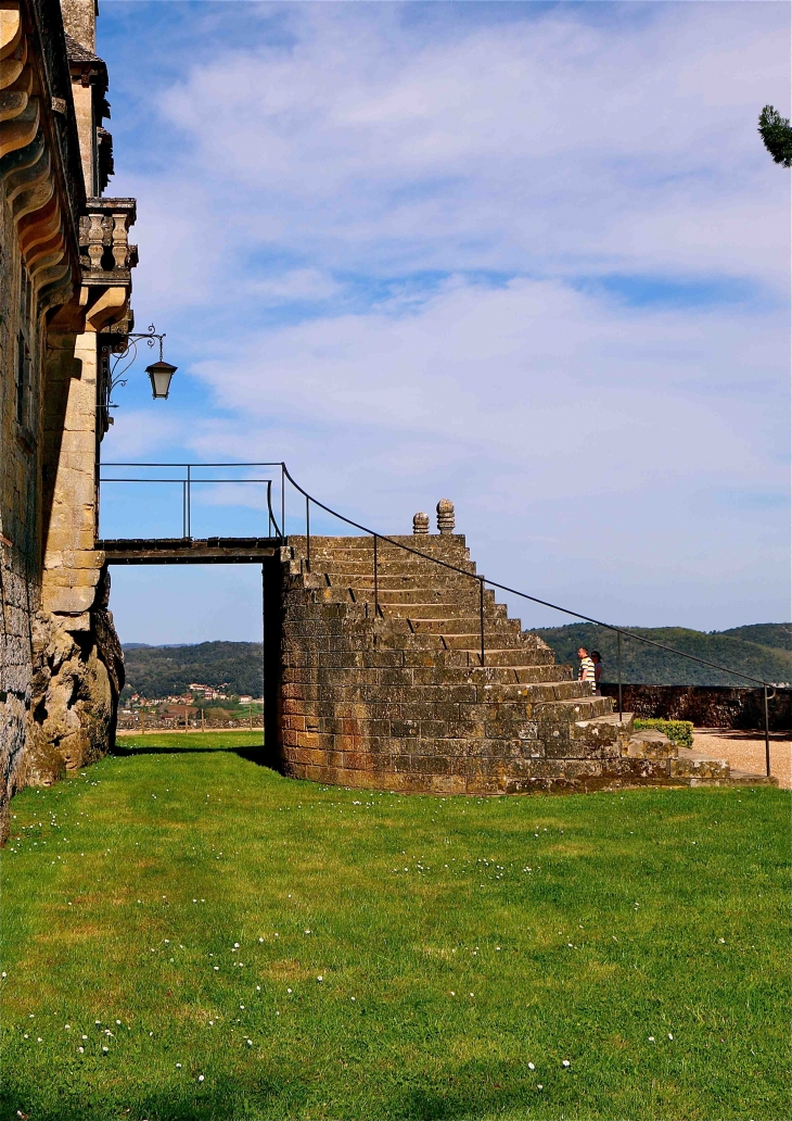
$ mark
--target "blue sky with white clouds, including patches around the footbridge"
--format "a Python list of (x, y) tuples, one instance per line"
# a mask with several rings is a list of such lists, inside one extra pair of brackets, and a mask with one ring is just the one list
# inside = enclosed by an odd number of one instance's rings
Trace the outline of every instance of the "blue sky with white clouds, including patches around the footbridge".
[[(133, 369), (104, 460), (286, 460), (382, 532), (448, 497), (487, 575), (615, 623), (788, 619), (790, 175), (756, 119), (789, 46), (763, 2), (103, 0), (108, 193), (179, 367), (167, 402)], [(258, 531), (205, 495), (196, 531)], [(105, 491), (108, 536), (160, 517)], [(123, 641), (258, 638), (259, 580), (114, 569), (111, 605)]]

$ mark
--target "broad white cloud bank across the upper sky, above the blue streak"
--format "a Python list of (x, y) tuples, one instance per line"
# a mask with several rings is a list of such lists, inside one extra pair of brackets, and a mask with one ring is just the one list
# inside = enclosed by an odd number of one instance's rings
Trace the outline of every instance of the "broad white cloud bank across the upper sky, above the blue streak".
[(658, 4), (599, 26), (527, 10), (446, 35), (291, 15), (289, 49), (220, 52), (165, 99), (233, 197), (232, 237), (375, 271), (785, 281), (789, 186), (756, 135), (758, 108), (788, 99), (785, 10)]

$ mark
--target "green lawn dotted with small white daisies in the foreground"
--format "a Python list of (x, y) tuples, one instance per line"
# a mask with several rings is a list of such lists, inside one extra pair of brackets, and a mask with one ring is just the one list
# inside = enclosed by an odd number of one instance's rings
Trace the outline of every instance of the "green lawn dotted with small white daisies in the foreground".
[(366, 794), (254, 740), (15, 798), (2, 1121), (792, 1115), (788, 793)]

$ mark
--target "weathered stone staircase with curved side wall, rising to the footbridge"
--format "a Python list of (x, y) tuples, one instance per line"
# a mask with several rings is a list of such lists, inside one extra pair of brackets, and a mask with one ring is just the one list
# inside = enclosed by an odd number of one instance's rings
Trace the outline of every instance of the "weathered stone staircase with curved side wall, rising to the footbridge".
[[(441, 794), (591, 790), (728, 781), (728, 765), (679, 759), (635, 735), (609, 697), (556, 664), (464, 573), (462, 535), (290, 537), (280, 550), (279, 765), (351, 787)], [(442, 560), (463, 572), (435, 563)]]

